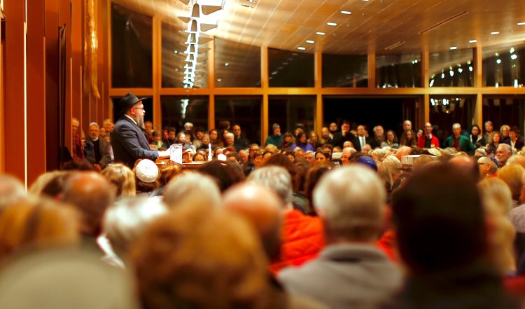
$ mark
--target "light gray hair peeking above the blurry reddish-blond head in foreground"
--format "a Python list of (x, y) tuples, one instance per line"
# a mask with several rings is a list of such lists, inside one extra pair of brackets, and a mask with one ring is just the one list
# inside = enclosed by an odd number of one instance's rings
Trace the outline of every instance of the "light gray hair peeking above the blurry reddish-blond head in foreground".
[(169, 181), (162, 195), (170, 208), (197, 196), (211, 207), (221, 205), (221, 190), (217, 182), (212, 177), (196, 172), (185, 172), (176, 176)]

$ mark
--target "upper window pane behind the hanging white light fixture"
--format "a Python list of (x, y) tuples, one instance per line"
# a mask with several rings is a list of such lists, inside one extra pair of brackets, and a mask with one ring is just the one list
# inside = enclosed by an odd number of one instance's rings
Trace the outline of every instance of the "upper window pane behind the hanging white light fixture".
[[(174, 19), (176, 24), (162, 22), (162, 88), (183, 88), (184, 71), (186, 71), (185, 44), (188, 36), (181, 33), (186, 24)], [(207, 44), (198, 46), (197, 67), (193, 88), (208, 87)]]

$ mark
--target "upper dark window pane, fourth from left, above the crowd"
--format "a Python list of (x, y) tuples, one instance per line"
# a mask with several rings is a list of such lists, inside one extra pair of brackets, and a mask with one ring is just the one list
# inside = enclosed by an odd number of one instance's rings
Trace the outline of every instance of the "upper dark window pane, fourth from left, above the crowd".
[(314, 55), (268, 48), (270, 87), (314, 87)]

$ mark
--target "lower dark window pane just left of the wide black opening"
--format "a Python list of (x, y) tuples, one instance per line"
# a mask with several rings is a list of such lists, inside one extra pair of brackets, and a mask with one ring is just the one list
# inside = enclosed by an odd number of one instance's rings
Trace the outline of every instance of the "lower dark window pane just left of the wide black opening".
[(268, 98), (269, 130), (272, 131), (273, 123), (281, 125), (281, 133), (293, 132), (295, 128), (302, 128), (304, 132), (314, 130), (315, 104), (314, 96), (270, 96)]

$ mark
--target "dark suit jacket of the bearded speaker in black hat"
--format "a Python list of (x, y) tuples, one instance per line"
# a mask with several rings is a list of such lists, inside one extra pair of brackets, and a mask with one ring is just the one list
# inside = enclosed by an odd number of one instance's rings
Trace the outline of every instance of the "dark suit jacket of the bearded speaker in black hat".
[(137, 159), (150, 159), (155, 161), (159, 153), (150, 150), (148, 140), (141, 128), (132, 119), (126, 116), (120, 117), (111, 135), (111, 146), (115, 162), (122, 162), (133, 168)]

